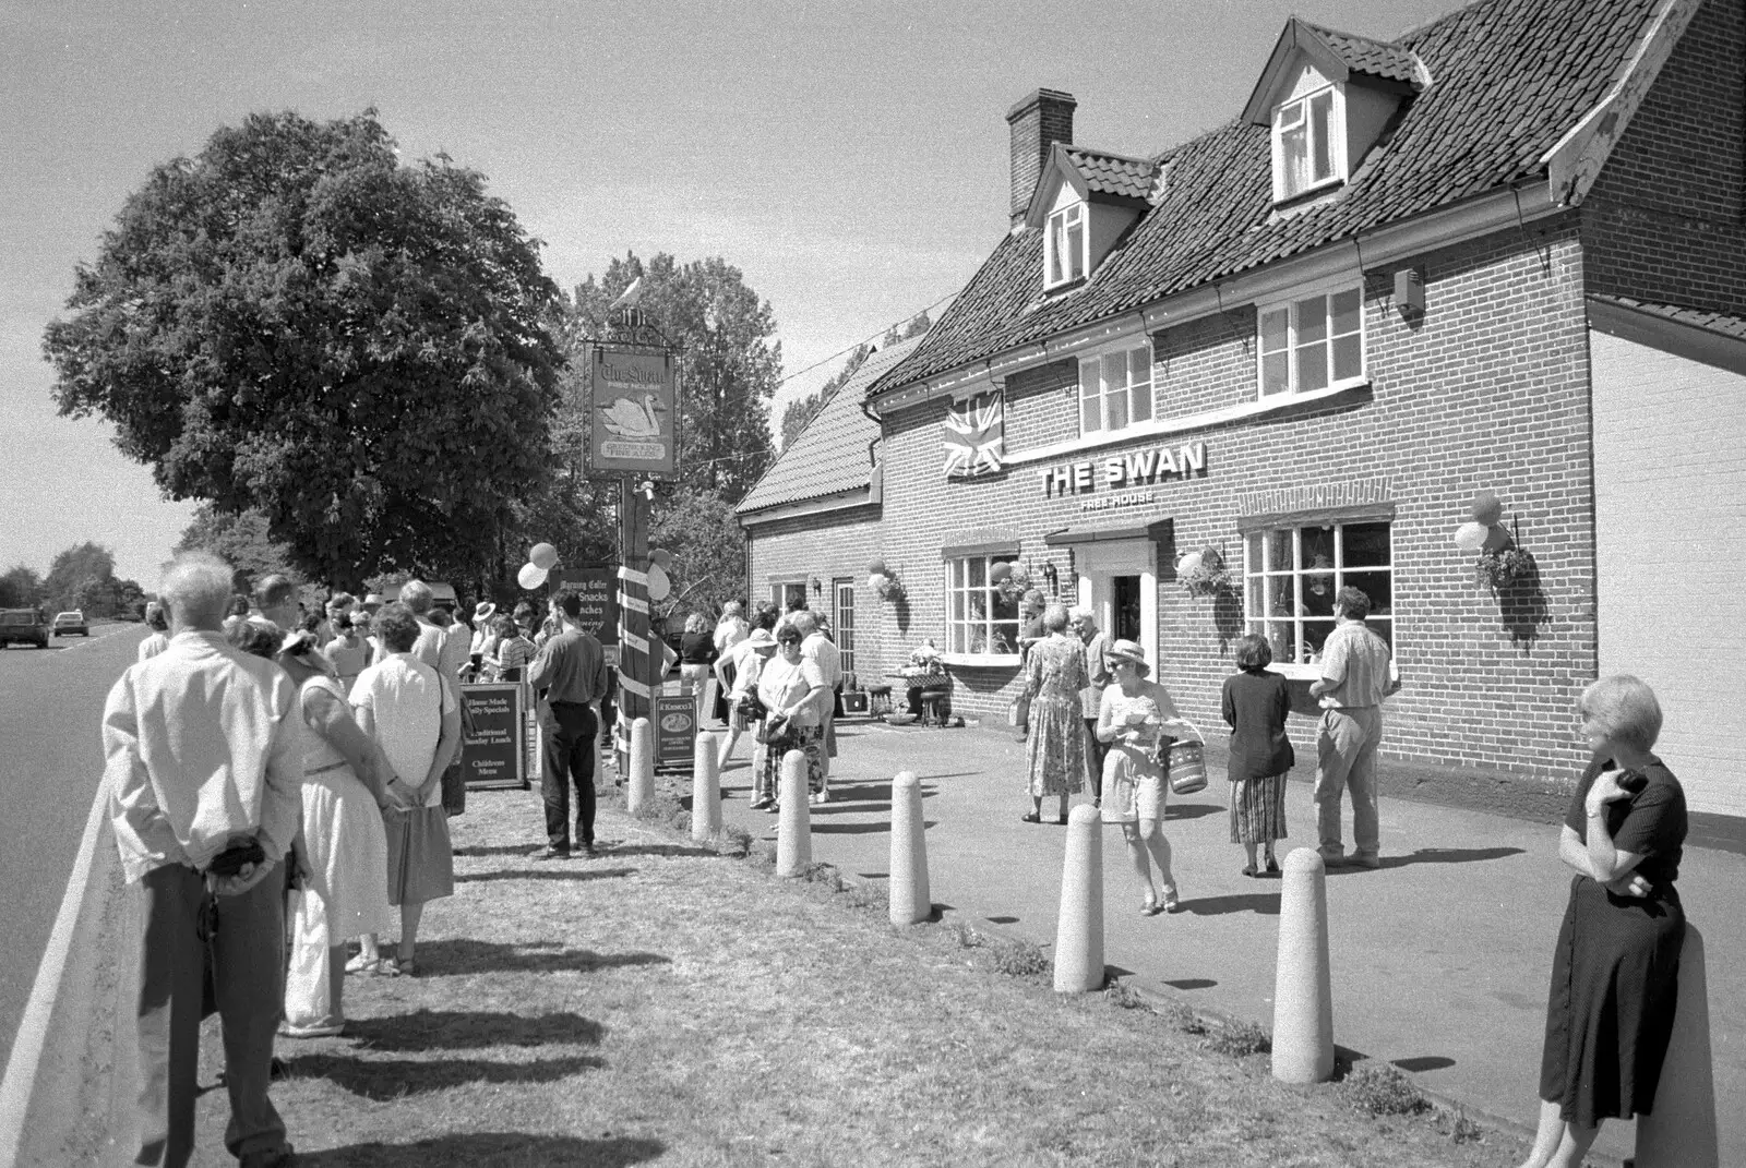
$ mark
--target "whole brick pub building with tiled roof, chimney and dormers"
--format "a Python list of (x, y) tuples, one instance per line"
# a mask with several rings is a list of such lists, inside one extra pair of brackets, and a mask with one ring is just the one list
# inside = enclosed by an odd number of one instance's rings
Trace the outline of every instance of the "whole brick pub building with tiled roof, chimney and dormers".
[[(1070, 94), (1013, 106), (1011, 232), (740, 505), (754, 592), (828, 611), (863, 684), (932, 637), (983, 718), (1021, 688), (997, 564), (1208, 732), (1261, 632), (1313, 759), (1351, 583), (1406, 683), (1383, 752), (1432, 798), (1561, 810), (1575, 698), (1629, 670), (1699, 819), (1746, 815), (1746, 3), (1292, 19), (1259, 65), (1151, 157), (1076, 143)], [(1453, 538), (1484, 491), (1526, 553), (1496, 587)], [(1191, 595), (1187, 553), (1227, 587)]]

